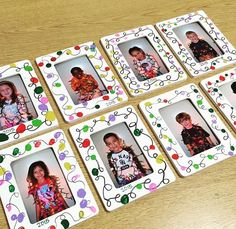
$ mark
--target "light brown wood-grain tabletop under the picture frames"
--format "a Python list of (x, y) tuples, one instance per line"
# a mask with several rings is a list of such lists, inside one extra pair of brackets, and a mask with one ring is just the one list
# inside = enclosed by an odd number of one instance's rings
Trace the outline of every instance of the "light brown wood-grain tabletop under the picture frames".
[[(204, 10), (224, 35), (236, 46), (236, 2), (215, 1), (84, 1), (84, 0), (0, 0), (0, 66), (29, 59), (40, 78), (62, 128), (77, 155), (78, 162), (96, 197), (100, 213), (73, 228), (236, 228), (236, 157), (176, 182), (111, 213), (106, 212), (92, 185), (80, 156), (72, 143), (68, 128), (40, 75), (35, 58), (59, 49), (94, 41), (104, 54), (99, 39), (103, 36), (167, 20), (196, 10)], [(105, 57), (108, 61), (108, 58)], [(110, 62), (108, 62), (111, 66)], [(232, 66), (231, 66), (232, 67)], [(227, 70), (230, 67), (224, 68)], [(115, 70), (113, 69), (115, 72)], [(217, 71), (215, 73), (218, 73)], [(214, 74), (214, 73), (213, 73)], [(199, 83), (200, 78), (188, 78)], [(145, 98), (175, 88), (175, 85), (154, 91), (117, 106), (137, 104)], [(107, 111), (111, 111), (110, 108)], [(99, 114), (102, 114), (100, 112)], [(91, 115), (90, 118), (96, 115)], [(227, 124), (226, 124), (227, 125)], [(149, 129), (150, 130), (150, 129)], [(233, 133), (235, 136), (235, 133)], [(157, 142), (157, 140), (156, 140)], [(1, 228), (7, 221), (0, 207)]]

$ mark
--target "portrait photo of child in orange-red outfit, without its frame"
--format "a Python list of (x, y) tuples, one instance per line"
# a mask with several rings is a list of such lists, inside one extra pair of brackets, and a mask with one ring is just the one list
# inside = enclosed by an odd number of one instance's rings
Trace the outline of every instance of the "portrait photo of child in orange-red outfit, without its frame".
[(108, 93), (85, 55), (56, 64), (55, 68), (75, 105)]

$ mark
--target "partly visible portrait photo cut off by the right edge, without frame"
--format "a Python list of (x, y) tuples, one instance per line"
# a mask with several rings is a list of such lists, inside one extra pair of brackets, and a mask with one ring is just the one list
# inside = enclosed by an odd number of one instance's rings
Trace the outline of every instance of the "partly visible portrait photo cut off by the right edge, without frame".
[(221, 85), (219, 89), (234, 109), (236, 109), (236, 80)]

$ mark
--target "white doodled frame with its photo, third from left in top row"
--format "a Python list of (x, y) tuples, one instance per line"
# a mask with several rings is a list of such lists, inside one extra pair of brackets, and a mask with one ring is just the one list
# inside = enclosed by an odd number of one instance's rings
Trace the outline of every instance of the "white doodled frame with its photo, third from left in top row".
[(187, 78), (152, 25), (103, 37), (101, 43), (132, 96)]

